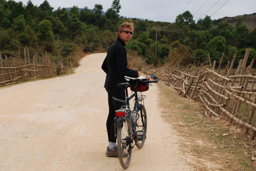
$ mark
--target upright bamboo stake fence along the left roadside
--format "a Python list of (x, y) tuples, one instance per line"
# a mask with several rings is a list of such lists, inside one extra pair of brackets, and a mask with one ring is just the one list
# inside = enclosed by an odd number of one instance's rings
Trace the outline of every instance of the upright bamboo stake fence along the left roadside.
[(0, 86), (49, 77), (53, 75), (53, 71), (47, 52), (42, 57), (35, 54), (31, 58), (29, 50), (24, 48), (24, 58), (21, 58), (19, 51), (19, 57), (4, 55), (4, 59), (0, 52)]

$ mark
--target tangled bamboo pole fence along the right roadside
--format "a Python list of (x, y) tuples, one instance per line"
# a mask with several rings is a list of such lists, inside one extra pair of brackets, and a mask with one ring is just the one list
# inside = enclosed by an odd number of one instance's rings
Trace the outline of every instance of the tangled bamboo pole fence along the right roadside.
[(215, 61), (213, 66), (210, 66), (211, 69), (198, 67), (193, 69), (192, 73), (188, 73), (191, 68), (180, 69), (179, 67), (172, 74), (167, 74), (166, 68), (151, 70), (144, 68), (144, 71), (149, 75), (158, 75), (162, 82), (175, 89), (182, 97), (202, 103), (205, 107), (205, 111), (202, 111), (203, 116), (225, 117), (231, 126), (240, 127), (245, 135), (254, 140), (256, 135), (254, 117), (256, 73), (252, 73), (254, 58), (246, 67), (249, 52), (250, 49), (247, 49), (234, 74), (232, 74), (232, 69), (236, 55), (231, 63), (227, 63), (225, 71), (221, 70), (223, 56), (217, 71), (215, 71)]

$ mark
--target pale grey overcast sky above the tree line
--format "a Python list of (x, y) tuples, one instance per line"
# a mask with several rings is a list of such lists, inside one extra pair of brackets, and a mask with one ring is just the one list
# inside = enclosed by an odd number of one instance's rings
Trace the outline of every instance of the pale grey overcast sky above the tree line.
[[(8, 1), (8, 0), (7, 0)], [(28, 0), (22, 1), (27, 5)], [(36, 6), (40, 6), (44, 0), (31, 0)], [(101, 4), (103, 11), (107, 11), (113, 0), (47, 0), (57, 10), (58, 7), (69, 8), (74, 5), (78, 8), (93, 9), (95, 4)], [(185, 11), (193, 15), (197, 21), (206, 15), (211, 19), (219, 19), (225, 16), (234, 17), (256, 12), (256, 0), (120, 0), (119, 15), (132, 18), (142, 18), (152, 21), (174, 23), (176, 17)]]

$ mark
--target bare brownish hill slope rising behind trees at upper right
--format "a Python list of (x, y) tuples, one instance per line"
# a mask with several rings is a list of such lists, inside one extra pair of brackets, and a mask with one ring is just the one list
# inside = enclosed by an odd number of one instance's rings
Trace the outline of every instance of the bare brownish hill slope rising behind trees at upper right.
[(235, 27), (236, 23), (238, 22), (238, 18), (242, 18), (243, 24), (246, 25), (249, 31), (254, 30), (256, 27), (256, 13), (238, 15), (236, 17), (223, 17), (215, 20), (214, 22), (220, 23), (222, 21), (227, 21), (230, 25)]

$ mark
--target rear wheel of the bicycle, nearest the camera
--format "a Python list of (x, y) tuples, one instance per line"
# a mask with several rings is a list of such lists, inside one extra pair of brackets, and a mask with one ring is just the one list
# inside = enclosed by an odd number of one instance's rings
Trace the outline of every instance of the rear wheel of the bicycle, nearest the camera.
[(128, 168), (132, 157), (132, 138), (129, 127), (129, 120), (124, 121), (123, 127), (118, 127), (117, 132), (118, 158), (124, 169)]

